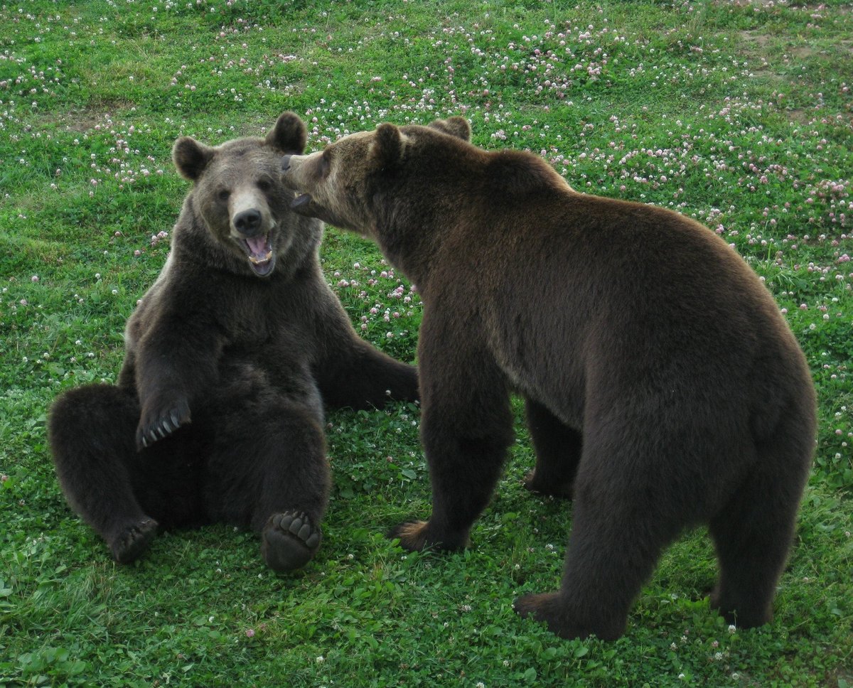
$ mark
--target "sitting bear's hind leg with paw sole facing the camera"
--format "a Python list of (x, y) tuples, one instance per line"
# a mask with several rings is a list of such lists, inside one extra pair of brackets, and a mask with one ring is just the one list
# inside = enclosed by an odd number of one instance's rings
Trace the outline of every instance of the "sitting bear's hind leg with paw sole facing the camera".
[[(322, 402), (307, 365), (283, 365), (281, 382), (237, 361), (214, 402), (216, 437), (206, 466), (206, 510), (261, 536), (261, 556), (278, 572), (316, 555), (331, 484)], [(235, 408), (239, 409), (235, 412)]]

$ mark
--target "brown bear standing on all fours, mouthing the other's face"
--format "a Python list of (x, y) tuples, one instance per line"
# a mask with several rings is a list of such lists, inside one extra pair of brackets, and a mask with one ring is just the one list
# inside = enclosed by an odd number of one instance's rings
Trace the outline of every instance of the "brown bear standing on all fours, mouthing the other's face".
[(432, 516), (392, 535), (466, 546), (516, 390), (527, 486), (574, 500), (560, 590), (519, 598), (521, 615), (615, 639), (664, 547), (706, 523), (712, 606), (768, 622), (815, 445), (809, 368), (773, 298), (699, 223), (469, 139), (461, 118), (380, 124), (282, 160), (295, 211), (374, 239), (423, 299)]

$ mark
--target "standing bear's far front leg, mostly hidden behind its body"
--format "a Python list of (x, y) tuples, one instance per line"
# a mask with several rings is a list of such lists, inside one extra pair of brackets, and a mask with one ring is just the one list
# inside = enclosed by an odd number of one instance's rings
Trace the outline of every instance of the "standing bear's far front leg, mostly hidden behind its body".
[(565, 425), (539, 402), (525, 398), (525, 408), (536, 450), (536, 468), (525, 477), (525, 488), (571, 499), (581, 459), (581, 433)]

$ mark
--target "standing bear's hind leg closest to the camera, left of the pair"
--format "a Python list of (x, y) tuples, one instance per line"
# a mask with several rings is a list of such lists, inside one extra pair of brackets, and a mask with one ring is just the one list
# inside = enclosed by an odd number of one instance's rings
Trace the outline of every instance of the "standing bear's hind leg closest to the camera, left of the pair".
[(621, 636), (660, 553), (697, 519), (678, 433), (647, 433), (624, 408), (606, 406), (584, 425), (560, 589), (515, 603), (563, 638)]

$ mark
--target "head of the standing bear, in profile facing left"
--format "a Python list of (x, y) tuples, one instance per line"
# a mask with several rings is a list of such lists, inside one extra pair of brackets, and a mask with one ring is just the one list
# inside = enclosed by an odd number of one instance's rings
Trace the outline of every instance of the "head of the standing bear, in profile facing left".
[(465, 175), (465, 160), (479, 153), (470, 138), (471, 126), (461, 117), (428, 126), (380, 124), (322, 151), (285, 156), (281, 179), (299, 194), (292, 207), (300, 215), (372, 234), (380, 215), (393, 212), (389, 197), (405, 199), (414, 213), (440, 204), (443, 191)]

